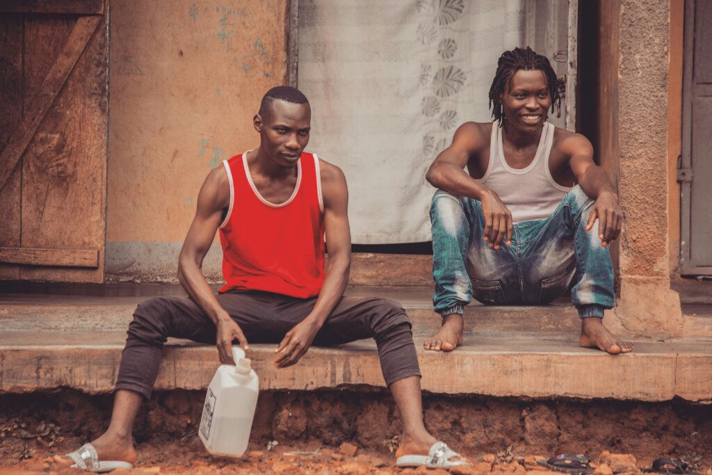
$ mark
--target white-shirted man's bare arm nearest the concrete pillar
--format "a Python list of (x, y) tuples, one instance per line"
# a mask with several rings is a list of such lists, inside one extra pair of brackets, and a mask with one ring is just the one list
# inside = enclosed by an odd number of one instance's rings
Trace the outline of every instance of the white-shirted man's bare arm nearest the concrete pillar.
[(593, 161), (593, 147), (586, 137), (572, 134), (562, 142), (562, 150), (570, 156), (569, 167), (581, 189), (595, 200), (586, 231), (590, 231), (598, 219), (598, 237), (602, 246), (608, 246), (617, 239), (623, 224), (623, 214), (606, 171)]

